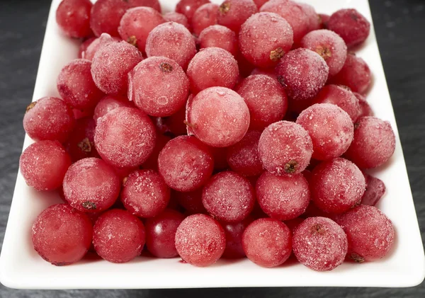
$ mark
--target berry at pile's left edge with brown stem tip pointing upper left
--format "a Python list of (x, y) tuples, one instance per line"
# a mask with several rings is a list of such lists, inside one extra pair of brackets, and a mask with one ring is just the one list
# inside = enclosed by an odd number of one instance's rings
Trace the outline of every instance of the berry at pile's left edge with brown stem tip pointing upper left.
[(43, 97), (28, 105), (23, 128), (34, 140), (65, 142), (75, 126), (72, 109), (60, 98)]

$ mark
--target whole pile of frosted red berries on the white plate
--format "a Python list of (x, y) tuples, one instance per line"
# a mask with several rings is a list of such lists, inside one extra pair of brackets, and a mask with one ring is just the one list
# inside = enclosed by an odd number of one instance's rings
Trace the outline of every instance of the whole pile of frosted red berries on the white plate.
[(82, 40), (79, 59), (57, 77), (62, 98), (28, 106), (20, 161), (28, 185), (64, 200), (33, 225), (42, 258), (275, 267), (293, 253), (322, 271), (390, 251), (385, 185), (364, 170), (390, 159), (395, 134), (351, 53), (370, 30), (358, 11), (64, 0), (57, 23)]

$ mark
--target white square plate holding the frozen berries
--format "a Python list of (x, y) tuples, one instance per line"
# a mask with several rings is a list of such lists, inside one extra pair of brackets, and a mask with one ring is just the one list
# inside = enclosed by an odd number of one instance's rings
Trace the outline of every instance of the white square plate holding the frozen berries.
[[(163, 11), (171, 11), (177, 1), (162, 0)], [(344, 7), (356, 8), (372, 21), (367, 0), (306, 2), (321, 13), (332, 13)], [(42, 96), (58, 96), (57, 74), (65, 64), (77, 58), (78, 42), (61, 35), (55, 22), (55, 11), (59, 3), (60, 0), (53, 0), (50, 9), (33, 100)], [(60, 199), (56, 195), (38, 193), (29, 188), (21, 173), (18, 173), (1, 251), (1, 283), (7, 287), (26, 289), (419, 285), (425, 276), (424, 248), (373, 26), (358, 55), (365, 59), (373, 72), (373, 87), (368, 94), (368, 101), (377, 117), (390, 121), (397, 139), (395, 154), (390, 162), (373, 171), (387, 186), (387, 194), (378, 207), (392, 220), (397, 231), (395, 248), (384, 259), (373, 263), (344, 263), (326, 273), (315, 272), (295, 263), (266, 269), (247, 259), (233, 262), (220, 260), (208, 268), (180, 263), (179, 258), (146, 257), (136, 258), (125, 264), (84, 260), (74, 265), (56, 267), (42, 260), (33, 250), (30, 231), (35, 217), (47, 206), (60, 202)], [(28, 147), (31, 142), (26, 137), (23, 148)]]

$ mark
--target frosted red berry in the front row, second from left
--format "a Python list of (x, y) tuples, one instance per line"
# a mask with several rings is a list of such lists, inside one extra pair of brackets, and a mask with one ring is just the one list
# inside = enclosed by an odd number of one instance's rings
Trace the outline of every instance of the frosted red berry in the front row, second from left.
[(112, 263), (125, 263), (140, 255), (145, 245), (145, 227), (126, 210), (112, 209), (94, 224), (96, 253)]

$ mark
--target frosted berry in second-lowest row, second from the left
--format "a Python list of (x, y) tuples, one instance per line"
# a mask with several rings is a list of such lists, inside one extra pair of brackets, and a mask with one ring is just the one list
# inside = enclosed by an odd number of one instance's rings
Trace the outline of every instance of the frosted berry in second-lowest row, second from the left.
[(125, 209), (137, 217), (156, 217), (170, 200), (170, 189), (154, 170), (138, 170), (125, 179), (121, 200)]

